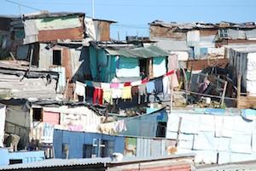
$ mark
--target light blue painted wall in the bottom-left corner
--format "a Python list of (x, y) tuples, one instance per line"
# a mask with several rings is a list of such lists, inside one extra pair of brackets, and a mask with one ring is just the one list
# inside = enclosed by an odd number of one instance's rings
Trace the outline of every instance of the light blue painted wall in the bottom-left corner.
[(0, 166), (8, 165), (9, 160), (22, 160), (22, 163), (39, 162), (44, 160), (44, 151), (17, 151), (0, 150)]

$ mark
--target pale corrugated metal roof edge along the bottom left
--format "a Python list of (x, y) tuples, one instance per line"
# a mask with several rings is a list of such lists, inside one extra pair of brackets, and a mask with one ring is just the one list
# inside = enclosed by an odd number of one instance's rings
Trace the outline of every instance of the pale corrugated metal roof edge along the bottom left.
[(66, 166), (83, 166), (90, 164), (105, 164), (111, 162), (110, 157), (106, 158), (79, 158), (79, 159), (47, 159), (42, 162), (30, 162), (22, 164), (12, 164), (9, 166), (2, 166), (0, 170), (22, 169), (22, 168), (53, 168)]

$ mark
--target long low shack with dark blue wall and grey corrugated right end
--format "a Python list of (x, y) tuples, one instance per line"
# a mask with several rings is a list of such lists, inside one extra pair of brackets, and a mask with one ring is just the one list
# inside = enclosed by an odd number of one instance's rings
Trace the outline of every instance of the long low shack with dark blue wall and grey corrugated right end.
[(70, 132), (55, 129), (54, 148), (57, 158), (111, 157), (114, 152), (124, 157), (162, 157), (171, 154), (174, 140), (136, 136)]

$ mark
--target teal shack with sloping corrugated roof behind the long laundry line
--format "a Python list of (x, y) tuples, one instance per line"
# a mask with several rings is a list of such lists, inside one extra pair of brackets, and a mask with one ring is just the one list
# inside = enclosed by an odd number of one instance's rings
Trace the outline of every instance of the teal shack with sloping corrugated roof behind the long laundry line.
[[(123, 45), (124, 46), (124, 45)], [(120, 82), (137, 81), (145, 77), (166, 74), (169, 54), (155, 46), (98, 47), (90, 45), (90, 71), (93, 80), (110, 83), (114, 77)]]

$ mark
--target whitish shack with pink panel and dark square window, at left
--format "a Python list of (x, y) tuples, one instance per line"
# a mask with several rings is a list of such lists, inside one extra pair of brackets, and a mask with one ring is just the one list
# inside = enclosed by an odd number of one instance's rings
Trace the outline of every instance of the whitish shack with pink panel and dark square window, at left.
[[(18, 150), (51, 149), (54, 128), (100, 132), (104, 107), (57, 100), (1, 100), (7, 105), (5, 134), (20, 137)], [(49, 156), (53, 154), (49, 151)]]

